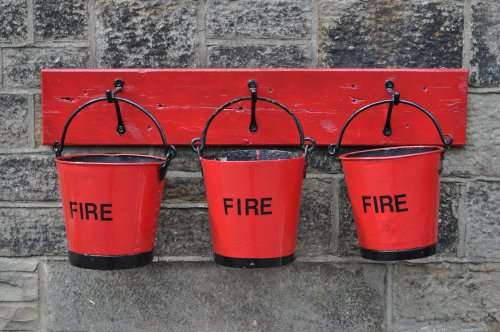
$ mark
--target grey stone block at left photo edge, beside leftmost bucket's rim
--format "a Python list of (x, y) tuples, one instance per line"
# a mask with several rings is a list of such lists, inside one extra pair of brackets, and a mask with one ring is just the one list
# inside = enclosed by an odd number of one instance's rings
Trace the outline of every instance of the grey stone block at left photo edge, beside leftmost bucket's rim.
[(0, 155), (0, 200), (59, 200), (54, 155)]

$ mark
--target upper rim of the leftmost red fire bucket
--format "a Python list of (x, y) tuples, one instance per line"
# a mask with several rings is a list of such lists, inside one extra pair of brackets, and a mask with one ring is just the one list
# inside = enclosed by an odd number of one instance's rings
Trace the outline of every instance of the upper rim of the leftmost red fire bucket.
[[(101, 161), (71, 161), (71, 158), (81, 158), (81, 157), (136, 157), (136, 158), (149, 158), (155, 161), (140, 161), (140, 162), (101, 162)], [(135, 153), (78, 153), (73, 155), (67, 155), (62, 157), (56, 157), (57, 164), (63, 165), (99, 165), (99, 166), (159, 166), (165, 162), (164, 157), (147, 155), (147, 154), (135, 154)]]

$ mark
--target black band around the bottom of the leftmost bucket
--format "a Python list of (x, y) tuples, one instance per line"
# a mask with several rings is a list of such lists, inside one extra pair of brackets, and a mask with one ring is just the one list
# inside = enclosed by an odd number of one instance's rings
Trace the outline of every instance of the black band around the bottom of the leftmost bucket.
[(148, 265), (153, 261), (153, 251), (135, 255), (99, 256), (68, 251), (71, 265), (94, 270), (123, 270)]

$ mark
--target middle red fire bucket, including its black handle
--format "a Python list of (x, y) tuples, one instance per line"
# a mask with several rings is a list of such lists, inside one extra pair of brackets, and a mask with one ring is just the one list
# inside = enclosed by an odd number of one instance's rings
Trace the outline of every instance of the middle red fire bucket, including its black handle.
[(201, 139), (192, 142), (205, 180), (215, 262), (240, 268), (282, 266), (295, 259), (302, 179), (307, 154), (315, 142), (304, 137), (298, 119), (285, 106), (257, 97), (293, 118), (304, 153), (257, 149), (203, 156), (208, 127), (215, 116), (248, 99), (239, 98), (219, 108)]

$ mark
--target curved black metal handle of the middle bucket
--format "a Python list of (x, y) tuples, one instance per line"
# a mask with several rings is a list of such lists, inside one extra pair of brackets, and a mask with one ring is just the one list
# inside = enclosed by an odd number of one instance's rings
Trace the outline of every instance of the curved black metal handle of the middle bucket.
[[(279, 108), (281, 108), (282, 110), (284, 110), (286, 113), (288, 113), (288, 115), (290, 115), (292, 117), (293, 121), (295, 122), (295, 125), (297, 126), (297, 130), (299, 132), (299, 137), (300, 137), (300, 147), (302, 149), (304, 149), (304, 156), (307, 157), (308, 152), (311, 152), (311, 151), (314, 150), (314, 148), (316, 147), (316, 141), (312, 137), (304, 137), (304, 130), (302, 129), (302, 125), (300, 124), (299, 119), (297, 119), (297, 117), (286, 106), (284, 106), (283, 104), (281, 104), (281, 103), (279, 103), (279, 102), (277, 102), (275, 100), (272, 100), (272, 99), (269, 99), (269, 98), (265, 98), (265, 97), (258, 97), (258, 96), (236, 98), (236, 99), (233, 99), (233, 100), (225, 103), (221, 107), (219, 107), (210, 116), (210, 118), (208, 119), (207, 123), (205, 124), (205, 127), (203, 128), (203, 131), (202, 131), (202, 134), (201, 134), (201, 138), (200, 137), (193, 138), (193, 140), (191, 141), (191, 149), (193, 149), (194, 152), (197, 152), (198, 155), (201, 156), (202, 153), (203, 153), (203, 150), (206, 147), (208, 128), (210, 127), (210, 124), (215, 119), (215, 117), (220, 112), (222, 112), (223, 110), (225, 110), (226, 108), (228, 108), (229, 106), (231, 106), (233, 104), (236, 104), (236, 103), (238, 103), (240, 101), (245, 101), (245, 100), (252, 100), (252, 101), (253, 100), (261, 100), (261, 101), (265, 101), (265, 102), (274, 104), (274, 105), (278, 106)], [(310, 142), (310, 144), (306, 144), (305, 142)]]

